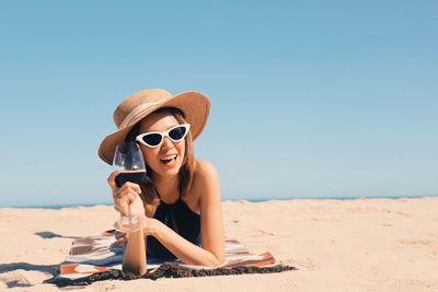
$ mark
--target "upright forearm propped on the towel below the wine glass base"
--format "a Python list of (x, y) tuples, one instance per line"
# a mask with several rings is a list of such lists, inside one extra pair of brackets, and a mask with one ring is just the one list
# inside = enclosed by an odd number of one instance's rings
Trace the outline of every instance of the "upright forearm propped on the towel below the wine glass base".
[(135, 275), (143, 275), (147, 271), (146, 246), (143, 231), (131, 232), (124, 245), (123, 270)]

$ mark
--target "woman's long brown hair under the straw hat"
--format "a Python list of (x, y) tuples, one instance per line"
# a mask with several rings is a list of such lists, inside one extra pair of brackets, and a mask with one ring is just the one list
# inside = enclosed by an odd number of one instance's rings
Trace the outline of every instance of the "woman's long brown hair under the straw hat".
[[(187, 122), (183, 112), (174, 107), (159, 108), (152, 114), (162, 114), (162, 113), (173, 115), (180, 124)], [(141, 121), (137, 122), (137, 125), (126, 136), (125, 141), (136, 140), (136, 137), (140, 133), (140, 124)], [(188, 195), (188, 191), (192, 187), (194, 168), (195, 168), (195, 157), (194, 157), (193, 138), (192, 133), (188, 132), (187, 136), (185, 137), (185, 155), (178, 173), (180, 196)], [(152, 177), (150, 175), (152, 173), (152, 170), (148, 165), (146, 165), (146, 170), (147, 170), (146, 178), (140, 185), (141, 188), (140, 198), (143, 201), (146, 214), (148, 217), (152, 217), (157, 210), (157, 207), (160, 205), (160, 199), (158, 197), (157, 189), (154, 187)]]

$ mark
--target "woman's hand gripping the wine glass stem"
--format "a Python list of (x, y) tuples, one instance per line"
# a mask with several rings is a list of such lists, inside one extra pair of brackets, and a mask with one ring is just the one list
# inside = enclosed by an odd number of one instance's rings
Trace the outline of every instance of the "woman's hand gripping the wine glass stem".
[(114, 209), (120, 212), (122, 215), (145, 217), (145, 206), (140, 198), (140, 186), (130, 182), (125, 183), (122, 187), (117, 187), (115, 183), (116, 176), (120, 172), (111, 173), (107, 182), (113, 190)]

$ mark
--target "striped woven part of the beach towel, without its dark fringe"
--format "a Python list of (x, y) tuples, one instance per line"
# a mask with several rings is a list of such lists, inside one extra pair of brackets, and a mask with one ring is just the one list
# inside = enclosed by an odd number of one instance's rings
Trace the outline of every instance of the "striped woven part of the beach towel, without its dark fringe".
[[(60, 264), (59, 275), (47, 282), (65, 285), (66, 282), (74, 282), (95, 273), (118, 270), (122, 271), (123, 244), (115, 244), (116, 230), (104, 231), (100, 234), (77, 238), (73, 241), (66, 260)], [(147, 258), (148, 273), (153, 273), (164, 261), (159, 258)], [(203, 266), (194, 266), (182, 262), (180, 259), (165, 260), (180, 267), (193, 270), (218, 269)], [(224, 264), (219, 268), (234, 267), (273, 267), (276, 260), (269, 252), (255, 255), (235, 240), (224, 242)]]

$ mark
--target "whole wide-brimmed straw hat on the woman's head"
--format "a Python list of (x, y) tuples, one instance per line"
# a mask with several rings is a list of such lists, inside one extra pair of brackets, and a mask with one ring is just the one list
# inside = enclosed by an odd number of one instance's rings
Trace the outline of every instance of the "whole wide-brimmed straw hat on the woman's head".
[(125, 140), (130, 129), (146, 116), (162, 107), (175, 107), (183, 112), (185, 119), (191, 124), (192, 137), (195, 140), (207, 124), (210, 100), (195, 91), (176, 95), (161, 89), (137, 92), (123, 101), (114, 112), (113, 118), (118, 130), (103, 139), (99, 148), (99, 156), (107, 164), (112, 164), (116, 147)]

